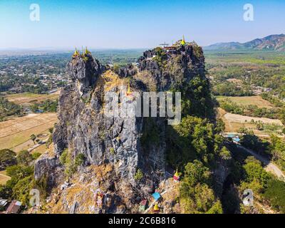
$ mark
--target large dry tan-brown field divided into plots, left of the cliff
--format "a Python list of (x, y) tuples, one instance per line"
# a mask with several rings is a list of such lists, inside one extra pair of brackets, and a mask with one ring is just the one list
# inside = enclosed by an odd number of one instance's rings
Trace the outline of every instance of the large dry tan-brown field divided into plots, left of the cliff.
[[(0, 122), (0, 150), (9, 148), (15, 152), (27, 150), (33, 146), (30, 135), (38, 135), (38, 139), (48, 138), (48, 128), (56, 123), (56, 113), (29, 114)], [(39, 151), (38, 151), (39, 150)], [(35, 149), (43, 151), (42, 147)]]

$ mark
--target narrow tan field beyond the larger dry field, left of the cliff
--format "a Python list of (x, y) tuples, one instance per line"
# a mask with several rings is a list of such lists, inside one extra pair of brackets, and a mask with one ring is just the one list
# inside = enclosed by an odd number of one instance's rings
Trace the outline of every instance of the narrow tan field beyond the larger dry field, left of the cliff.
[(33, 103), (40, 103), (44, 100), (56, 100), (59, 95), (59, 90), (50, 94), (35, 94), (35, 93), (14, 93), (7, 94), (7, 98), (10, 102), (14, 102), (18, 105), (31, 105)]

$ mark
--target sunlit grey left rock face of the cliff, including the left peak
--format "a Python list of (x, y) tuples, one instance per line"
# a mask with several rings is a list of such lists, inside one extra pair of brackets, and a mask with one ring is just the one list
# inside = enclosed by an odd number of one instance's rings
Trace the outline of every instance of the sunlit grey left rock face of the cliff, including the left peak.
[[(92, 56), (79, 69), (78, 62), (82, 62), (80, 56), (68, 64), (73, 83), (63, 89), (59, 98), (59, 123), (53, 134), (55, 152), (61, 155), (68, 148), (73, 158), (83, 154), (86, 165), (111, 162), (118, 175), (134, 182), (142, 119), (109, 117), (103, 112), (103, 105), (112, 102), (104, 100), (107, 90), (118, 93), (125, 82), (111, 71), (100, 72), (103, 67), (94, 64), (97, 61)], [(121, 100), (120, 105), (126, 102)]]

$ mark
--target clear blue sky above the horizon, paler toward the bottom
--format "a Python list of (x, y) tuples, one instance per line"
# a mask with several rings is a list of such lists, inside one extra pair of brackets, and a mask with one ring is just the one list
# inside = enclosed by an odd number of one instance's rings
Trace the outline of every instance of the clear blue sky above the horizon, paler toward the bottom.
[[(254, 21), (243, 19), (247, 3)], [(201, 46), (245, 42), (285, 33), (284, 12), (284, 0), (0, 0), (0, 48), (151, 48), (183, 34)]]

